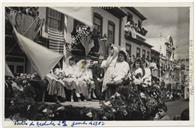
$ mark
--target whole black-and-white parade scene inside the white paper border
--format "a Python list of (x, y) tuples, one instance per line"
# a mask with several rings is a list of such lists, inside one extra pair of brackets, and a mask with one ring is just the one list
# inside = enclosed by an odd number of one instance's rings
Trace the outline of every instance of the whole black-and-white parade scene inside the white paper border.
[(4, 11), (5, 120), (190, 120), (189, 7)]

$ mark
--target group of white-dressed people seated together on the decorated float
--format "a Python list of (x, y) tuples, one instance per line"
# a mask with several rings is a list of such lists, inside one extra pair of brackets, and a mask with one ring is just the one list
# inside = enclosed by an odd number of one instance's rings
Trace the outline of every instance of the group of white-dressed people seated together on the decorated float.
[[(74, 97), (77, 100), (107, 99), (117, 91), (117, 86), (126, 81), (151, 86), (151, 70), (154, 69), (145, 59), (137, 59), (130, 65), (127, 63), (127, 53), (111, 46), (109, 56), (106, 59), (100, 56), (98, 61), (76, 62), (70, 56), (66, 59), (64, 70), (54, 68), (46, 79), (49, 81), (49, 94), (56, 93), (71, 101), (74, 101)], [(65, 87), (70, 96), (60, 87)]]

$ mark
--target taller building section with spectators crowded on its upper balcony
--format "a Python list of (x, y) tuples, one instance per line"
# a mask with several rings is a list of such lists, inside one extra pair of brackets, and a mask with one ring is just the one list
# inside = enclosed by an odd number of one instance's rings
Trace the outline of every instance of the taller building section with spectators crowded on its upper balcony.
[(150, 60), (152, 46), (146, 42), (147, 30), (142, 26), (146, 17), (132, 7), (124, 8), (124, 10), (127, 12), (124, 42), (129, 56), (132, 59), (143, 57)]

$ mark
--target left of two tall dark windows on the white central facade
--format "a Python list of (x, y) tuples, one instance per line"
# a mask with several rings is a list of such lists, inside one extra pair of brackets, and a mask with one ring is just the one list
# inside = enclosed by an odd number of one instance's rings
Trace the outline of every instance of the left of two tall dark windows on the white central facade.
[(94, 28), (102, 35), (102, 16), (97, 13), (94, 13), (93, 17)]

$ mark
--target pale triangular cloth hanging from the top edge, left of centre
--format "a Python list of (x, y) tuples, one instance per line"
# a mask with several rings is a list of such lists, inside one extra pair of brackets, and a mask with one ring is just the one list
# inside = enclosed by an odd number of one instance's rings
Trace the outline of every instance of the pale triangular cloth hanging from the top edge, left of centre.
[(80, 22), (92, 26), (93, 25), (93, 15), (91, 7), (51, 7), (65, 15), (68, 15)]

